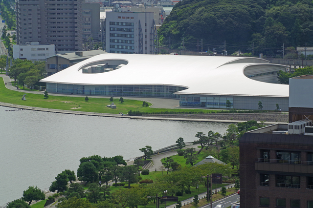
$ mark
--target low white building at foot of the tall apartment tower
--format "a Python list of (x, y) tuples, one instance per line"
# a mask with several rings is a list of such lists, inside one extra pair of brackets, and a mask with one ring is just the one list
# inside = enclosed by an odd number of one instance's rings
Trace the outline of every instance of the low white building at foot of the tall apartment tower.
[(39, 44), (39, 42), (26, 42), (25, 45), (13, 45), (14, 59), (27, 59), (33, 62), (45, 61), (54, 56), (54, 44)]

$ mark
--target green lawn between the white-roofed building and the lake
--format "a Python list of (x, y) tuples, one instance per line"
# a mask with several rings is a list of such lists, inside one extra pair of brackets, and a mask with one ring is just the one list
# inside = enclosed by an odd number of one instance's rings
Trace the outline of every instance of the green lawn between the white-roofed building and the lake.
[[(112, 109), (106, 107), (112, 102), (108, 98), (89, 98), (86, 102), (84, 97), (63, 97), (63, 96), (51, 96), (48, 99), (44, 99), (44, 93), (38, 94), (26, 94), (26, 101), (22, 101), (24, 92), (18, 92), (9, 90), (4, 86), (3, 79), (0, 79), (0, 102), (9, 104), (20, 104), (26, 106), (52, 108), (60, 110), (72, 110), (72, 111), (84, 111), (84, 112), (97, 112), (97, 113), (111, 113), (118, 114), (123, 112), (128, 113), (129, 110), (139, 110), (143, 112), (162, 112), (167, 111), (166, 108), (150, 108), (143, 107), (142, 101), (124, 99), (124, 103), (120, 103), (119, 98), (113, 99), (114, 104), (117, 108)], [(149, 103), (149, 105), (151, 105)], [(80, 107), (80, 108), (78, 108)], [(210, 113), (217, 110), (202, 110), (202, 109), (171, 109), (171, 111), (202, 111), (204, 113)]]

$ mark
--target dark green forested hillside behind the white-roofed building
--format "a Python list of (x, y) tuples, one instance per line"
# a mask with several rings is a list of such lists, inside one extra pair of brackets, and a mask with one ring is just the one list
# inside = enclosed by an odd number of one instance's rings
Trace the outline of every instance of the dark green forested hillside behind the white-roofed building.
[[(276, 55), (289, 46), (313, 45), (313, 1), (309, 0), (182, 0), (158, 30), (160, 45), (203, 51), (224, 41), (231, 54), (239, 49)], [(183, 49), (183, 48), (182, 48)], [(200, 47), (201, 50), (201, 47)]]

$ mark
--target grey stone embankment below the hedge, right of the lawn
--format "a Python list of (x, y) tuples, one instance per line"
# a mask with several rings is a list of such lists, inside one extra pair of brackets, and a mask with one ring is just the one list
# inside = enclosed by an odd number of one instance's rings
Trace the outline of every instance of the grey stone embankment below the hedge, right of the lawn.
[(212, 114), (163, 114), (144, 115), (145, 117), (181, 118), (181, 119), (209, 119), (234, 121), (266, 121), (288, 123), (288, 113), (212, 113)]

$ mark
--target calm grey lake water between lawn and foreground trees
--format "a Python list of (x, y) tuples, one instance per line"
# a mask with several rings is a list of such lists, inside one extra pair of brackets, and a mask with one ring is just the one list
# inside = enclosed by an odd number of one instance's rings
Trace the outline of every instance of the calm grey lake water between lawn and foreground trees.
[(82, 157), (132, 159), (146, 145), (157, 150), (179, 137), (192, 142), (199, 131), (224, 134), (229, 125), (6, 111), (12, 109), (0, 106), (0, 206), (22, 197), (29, 186), (47, 190), (65, 169), (76, 173)]

